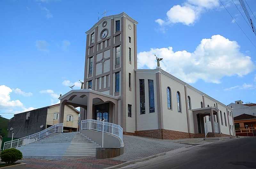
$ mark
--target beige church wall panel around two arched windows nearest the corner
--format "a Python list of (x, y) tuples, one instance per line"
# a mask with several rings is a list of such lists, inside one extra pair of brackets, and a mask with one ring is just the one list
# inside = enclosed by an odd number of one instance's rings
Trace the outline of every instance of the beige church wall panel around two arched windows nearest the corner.
[[(184, 86), (161, 74), (164, 129), (188, 132)], [(172, 110), (167, 108), (167, 87), (171, 88)], [(181, 112), (178, 112), (177, 91), (180, 92)]]

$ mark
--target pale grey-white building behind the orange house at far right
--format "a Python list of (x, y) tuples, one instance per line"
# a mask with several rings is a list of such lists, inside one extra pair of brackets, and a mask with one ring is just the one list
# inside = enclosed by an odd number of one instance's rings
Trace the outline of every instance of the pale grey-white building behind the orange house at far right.
[(244, 104), (243, 101), (238, 100), (235, 103), (228, 104), (229, 107), (233, 108), (233, 116), (239, 116), (241, 114), (255, 114), (256, 115), (256, 104), (255, 103), (248, 103)]

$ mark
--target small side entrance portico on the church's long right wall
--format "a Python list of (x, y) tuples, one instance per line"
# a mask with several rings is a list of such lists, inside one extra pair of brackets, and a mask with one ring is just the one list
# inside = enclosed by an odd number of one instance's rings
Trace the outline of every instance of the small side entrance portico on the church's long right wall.
[[(195, 134), (221, 133), (217, 107), (193, 109)], [(208, 117), (208, 118), (207, 118)]]

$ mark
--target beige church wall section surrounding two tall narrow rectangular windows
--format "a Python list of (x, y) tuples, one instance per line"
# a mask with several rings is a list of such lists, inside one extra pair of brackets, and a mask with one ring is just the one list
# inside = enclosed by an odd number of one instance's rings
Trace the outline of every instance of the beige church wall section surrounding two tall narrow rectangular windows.
[[(145, 114), (140, 114), (140, 81), (145, 83)], [(154, 80), (155, 112), (149, 113), (148, 79)], [(136, 99), (137, 99), (137, 130), (158, 129), (158, 111), (156, 98), (156, 74), (155, 73), (136, 73)]]

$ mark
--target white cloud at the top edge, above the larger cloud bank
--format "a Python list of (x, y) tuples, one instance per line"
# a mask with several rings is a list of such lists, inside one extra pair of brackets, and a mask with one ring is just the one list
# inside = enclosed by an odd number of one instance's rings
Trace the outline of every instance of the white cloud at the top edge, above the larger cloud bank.
[(192, 25), (205, 10), (216, 8), (219, 5), (219, 0), (187, 0), (184, 4), (172, 6), (166, 12), (166, 20), (156, 19), (155, 22), (160, 26), (172, 23)]

